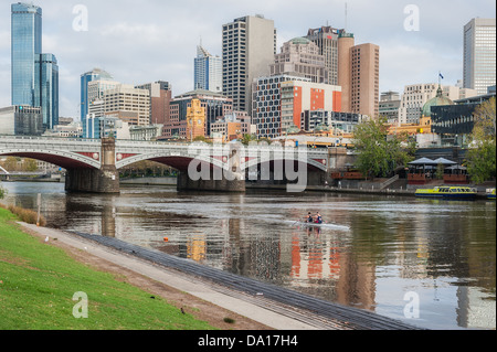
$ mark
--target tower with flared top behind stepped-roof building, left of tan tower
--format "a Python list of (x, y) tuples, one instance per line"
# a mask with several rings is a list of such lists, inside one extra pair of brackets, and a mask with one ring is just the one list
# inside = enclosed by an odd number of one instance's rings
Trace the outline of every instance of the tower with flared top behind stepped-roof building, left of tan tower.
[(309, 29), (307, 39), (319, 47), (319, 54), (325, 56), (325, 66), (330, 72), (329, 83), (338, 85), (338, 36), (343, 30), (329, 25)]

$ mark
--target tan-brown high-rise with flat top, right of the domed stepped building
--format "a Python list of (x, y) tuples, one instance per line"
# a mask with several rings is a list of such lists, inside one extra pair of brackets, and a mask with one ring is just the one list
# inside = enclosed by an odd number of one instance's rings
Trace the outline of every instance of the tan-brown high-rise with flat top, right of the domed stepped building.
[(338, 85), (342, 88), (342, 111), (378, 117), (380, 99), (380, 47), (355, 45), (353, 34), (338, 38)]

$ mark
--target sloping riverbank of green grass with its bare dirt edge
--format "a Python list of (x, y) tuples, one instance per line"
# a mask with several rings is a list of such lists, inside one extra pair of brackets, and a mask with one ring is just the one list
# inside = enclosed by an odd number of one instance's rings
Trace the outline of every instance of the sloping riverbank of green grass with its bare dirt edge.
[[(14, 221), (0, 209), (2, 330), (269, 329), (127, 269), (101, 246)], [(76, 292), (87, 295), (87, 319), (74, 316)]]

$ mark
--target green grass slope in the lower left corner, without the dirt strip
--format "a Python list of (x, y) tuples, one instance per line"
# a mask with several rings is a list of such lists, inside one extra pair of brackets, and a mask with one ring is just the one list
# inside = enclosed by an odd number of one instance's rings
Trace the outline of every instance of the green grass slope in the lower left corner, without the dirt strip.
[[(23, 233), (0, 209), (0, 330), (209, 330), (162, 298), (71, 258)], [(76, 319), (75, 292), (88, 297)]]

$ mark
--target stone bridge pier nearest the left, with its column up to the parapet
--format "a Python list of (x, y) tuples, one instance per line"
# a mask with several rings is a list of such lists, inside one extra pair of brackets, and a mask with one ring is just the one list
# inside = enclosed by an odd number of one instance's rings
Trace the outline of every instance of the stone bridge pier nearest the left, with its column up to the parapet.
[(88, 193), (119, 193), (119, 172), (116, 168), (114, 138), (102, 139), (101, 169), (67, 169), (65, 191)]

